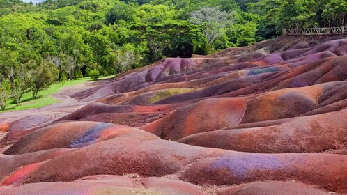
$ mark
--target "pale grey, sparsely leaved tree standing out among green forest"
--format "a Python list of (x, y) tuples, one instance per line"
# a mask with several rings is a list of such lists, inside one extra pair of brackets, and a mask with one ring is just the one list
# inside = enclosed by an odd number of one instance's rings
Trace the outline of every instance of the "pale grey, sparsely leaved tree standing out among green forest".
[(203, 35), (210, 45), (215, 39), (224, 34), (224, 28), (232, 24), (233, 13), (226, 13), (218, 8), (206, 7), (194, 11), (190, 15), (190, 22), (203, 26)]

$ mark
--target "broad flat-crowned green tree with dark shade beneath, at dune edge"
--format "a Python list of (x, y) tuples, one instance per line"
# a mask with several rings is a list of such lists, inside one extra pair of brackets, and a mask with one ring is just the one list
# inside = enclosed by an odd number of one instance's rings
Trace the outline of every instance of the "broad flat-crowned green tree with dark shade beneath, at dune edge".
[[(164, 56), (191, 57), (192, 54), (207, 54), (207, 39), (201, 26), (186, 21), (169, 20), (158, 24), (136, 26), (143, 29), (146, 45), (149, 49), (149, 62)], [(140, 31), (140, 30), (139, 30)], [(144, 50), (142, 50), (144, 51)]]

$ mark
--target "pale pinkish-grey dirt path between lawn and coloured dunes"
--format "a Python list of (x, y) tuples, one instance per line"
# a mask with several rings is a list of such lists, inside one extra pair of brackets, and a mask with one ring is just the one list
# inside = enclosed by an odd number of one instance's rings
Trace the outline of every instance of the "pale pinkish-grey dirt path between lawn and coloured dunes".
[(1, 113), (0, 125), (4, 123), (12, 123), (16, 120), (26, 120), (26, 122), (28, 122), (29, 120), (29, 122), (31, 122), (31, 125), (29, 126), (36, 126), (38, 124), (45, 125), (47, 123), (51, 123), (53, 120), (66, 116), (73, 111), (84, 107), (86, 104), (91, 103), (79, 102), (78, 100), (75, 100), (75, 98), (71, 98), (70, 95), (85, 91), (88, 88), (93, 88), (105, 82), (107, 82), (107, 80), (86, 81), (83, 84), (68, 86), (59, 91), (59, 93), (52, 95), (54, 98), (56, 98), (56, 100), (59, 100), (59, 103), (52, 104), (47, 107)]

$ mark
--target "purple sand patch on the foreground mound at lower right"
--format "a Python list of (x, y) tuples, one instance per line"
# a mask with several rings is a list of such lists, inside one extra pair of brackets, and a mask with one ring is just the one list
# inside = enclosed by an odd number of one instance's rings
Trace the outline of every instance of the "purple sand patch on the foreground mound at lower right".
[(221, 157), (213, 163), (213, 169), (228, 168), (236, 176), (244, 176), (252, 169), (279, 169), (283, 166), (275, 156), (249, 155), (242, 157)]

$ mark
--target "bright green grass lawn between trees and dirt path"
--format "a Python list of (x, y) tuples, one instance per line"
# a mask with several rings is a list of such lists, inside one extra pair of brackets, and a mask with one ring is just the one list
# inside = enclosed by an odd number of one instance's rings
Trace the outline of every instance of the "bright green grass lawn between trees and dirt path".
[[(100, 79), (110, 79), (114, 77), (113, 76), (108, 76), (108, 77), (100, 77)], [(54, 83), (51, 86), (49, 86), (47, 89), (38, 92), (38, 97), (36, 99), (33, 99), (33, 93), (24, 93), (22, 95), (22, 98), (20, 98), (20, 104), (11, 104), (10, 101), (8, 102), (7, 106), (5, 109), (3, 109), (0, 112), (4, 111), (17, 111), (17, 110), (24, 110), (24, 109), (36, 109), (40, 107), (45, 107), (50, 104), (54, 104), (59, 102), (55, 98), (52, 97), (54, 93), (58, 93), (61, 91), (63, 88), (68, 87), (68, 86), (73, 86), (76, 84), (82, 84), (86, 81), (92, 81), (90, 77), (84, 77), (81, 79), (75, 79), (72, 81), (65, 81), (64, 84), (61, 83)]]

